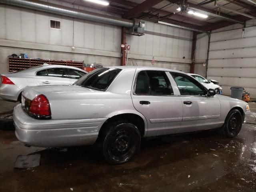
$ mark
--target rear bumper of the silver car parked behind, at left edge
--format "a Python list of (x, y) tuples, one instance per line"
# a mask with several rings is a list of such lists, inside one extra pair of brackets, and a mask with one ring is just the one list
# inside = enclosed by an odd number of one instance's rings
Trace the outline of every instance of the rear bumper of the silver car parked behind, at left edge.
[(0, 98), (6, 101), (16, 102), (20, 89), (16, 85), (0, 84)]

